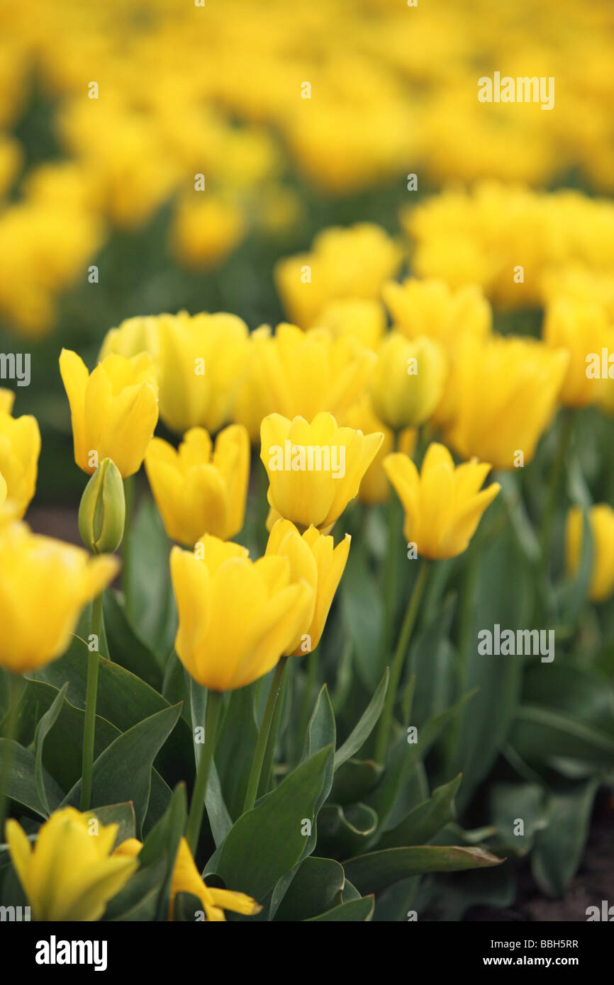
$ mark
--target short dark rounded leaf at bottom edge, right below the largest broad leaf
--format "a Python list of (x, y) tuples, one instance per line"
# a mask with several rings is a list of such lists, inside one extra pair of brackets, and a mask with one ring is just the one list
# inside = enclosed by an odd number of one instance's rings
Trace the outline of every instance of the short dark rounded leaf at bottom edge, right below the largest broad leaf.
[(345, 883), (342, 866), (334, 859), (304, 859), (277, 910), (275, 920), (308, 920), (341, 903)]

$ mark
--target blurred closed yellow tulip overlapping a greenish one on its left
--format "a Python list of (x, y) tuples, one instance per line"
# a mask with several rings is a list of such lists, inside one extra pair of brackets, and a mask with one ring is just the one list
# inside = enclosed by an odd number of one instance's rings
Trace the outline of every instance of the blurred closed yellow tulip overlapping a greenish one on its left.
[(180, 312), (158, 325), (160, 417), (183, 434), (230, 421), (249, 357), (247, 326), (234, 314)]

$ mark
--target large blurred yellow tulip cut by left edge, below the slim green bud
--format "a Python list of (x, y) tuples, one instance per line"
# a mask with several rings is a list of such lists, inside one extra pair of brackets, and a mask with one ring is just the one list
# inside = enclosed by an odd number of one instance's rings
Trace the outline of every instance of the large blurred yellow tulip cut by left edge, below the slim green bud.
[(33, 534), (0, 531), (0, 667), (25, 674), (66, 650), (81, 610), (108, 585), (116, 558)]

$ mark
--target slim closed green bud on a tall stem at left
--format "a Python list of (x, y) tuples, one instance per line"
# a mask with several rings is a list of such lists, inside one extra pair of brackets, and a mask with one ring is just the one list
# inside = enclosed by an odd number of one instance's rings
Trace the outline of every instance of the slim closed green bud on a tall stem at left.
[(126, 503), (119, 470), (103, 458), (81, 497), (79, 532), (92, 554), (112, 554), (121, 544)]

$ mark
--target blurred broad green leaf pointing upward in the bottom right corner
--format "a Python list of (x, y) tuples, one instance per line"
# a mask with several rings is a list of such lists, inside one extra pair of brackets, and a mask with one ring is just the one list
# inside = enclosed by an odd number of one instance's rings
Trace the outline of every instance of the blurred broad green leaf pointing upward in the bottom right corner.
[(598, 785), (588, 780), (550, 798), (548, 826), (537, 831), (530, 857), (535, 882), (551, 896), (564, 894), (580, 866)]

